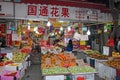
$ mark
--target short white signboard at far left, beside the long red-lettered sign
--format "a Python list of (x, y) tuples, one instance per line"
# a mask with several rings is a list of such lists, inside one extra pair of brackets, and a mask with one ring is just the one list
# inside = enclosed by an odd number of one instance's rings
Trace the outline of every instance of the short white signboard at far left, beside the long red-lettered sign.
[(13, 3), (0, 2), (0, 17), (13, 18)]

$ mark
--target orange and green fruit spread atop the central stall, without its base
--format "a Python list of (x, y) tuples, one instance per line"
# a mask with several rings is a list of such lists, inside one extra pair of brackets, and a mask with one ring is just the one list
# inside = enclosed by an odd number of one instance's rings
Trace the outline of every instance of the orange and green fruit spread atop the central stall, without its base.
[(72, 74), (87, 74), (96, 73), (96, 70), (89, 65), (77, 65), (76, 57), (73, 54), (43, 54), (42, 55), (42, 74), (49, 75), (72, 75)]

